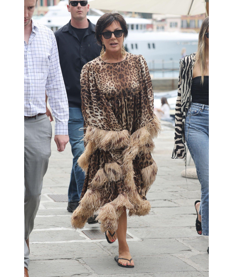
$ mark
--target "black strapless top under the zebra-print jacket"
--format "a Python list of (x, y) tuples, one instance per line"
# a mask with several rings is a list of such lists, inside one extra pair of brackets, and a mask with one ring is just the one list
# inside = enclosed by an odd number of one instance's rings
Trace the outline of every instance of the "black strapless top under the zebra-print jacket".
[(204, 83), (201, 85), (201, 76), (193, 78), (191, 96), (193, 103), (209, 106), (209, 76), (204, 76)]

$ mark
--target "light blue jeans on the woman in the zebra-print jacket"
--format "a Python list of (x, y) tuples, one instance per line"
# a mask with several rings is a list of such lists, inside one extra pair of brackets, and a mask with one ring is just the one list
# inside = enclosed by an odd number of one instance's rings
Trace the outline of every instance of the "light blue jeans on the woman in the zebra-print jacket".
[(209, 106), (191, 102), (185, 120), (185, 140), (201, 184), (202, 235), (209, 236)]

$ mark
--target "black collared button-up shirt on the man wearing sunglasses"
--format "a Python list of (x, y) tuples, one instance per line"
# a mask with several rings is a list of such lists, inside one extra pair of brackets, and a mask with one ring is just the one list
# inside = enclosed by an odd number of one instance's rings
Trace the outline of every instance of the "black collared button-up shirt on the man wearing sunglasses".
[(101, 51), (101, 46), (96, 43), (95, 25), (89, 19), (88, 22), (89, 27), (81, 42), (70, 22), (54, 33), (69, 107), (81, 108), (80, 74), (82, 67), (98, 57)]

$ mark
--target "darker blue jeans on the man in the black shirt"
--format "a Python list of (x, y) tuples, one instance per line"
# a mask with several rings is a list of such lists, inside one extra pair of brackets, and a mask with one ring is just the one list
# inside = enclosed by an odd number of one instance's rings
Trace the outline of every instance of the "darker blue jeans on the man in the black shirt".
[(77, 165), (77, 160), (84, 151), (83, 128), (84, 119), (80, 108), (69, 108), (68, 134), (73, 158), (73, 166), (70, 175), (70, 185), (68, 190), (68, 201), (80, 201), (80, 195), (84, 184), (85, 173)]

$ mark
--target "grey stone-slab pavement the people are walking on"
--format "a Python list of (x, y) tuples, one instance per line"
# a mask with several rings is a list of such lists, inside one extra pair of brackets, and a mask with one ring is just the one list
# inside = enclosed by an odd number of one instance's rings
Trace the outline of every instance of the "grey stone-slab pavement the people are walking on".
[[(54, 130), (54, 122), (52, 122)], [(53, 131), (54, 133), (54, 131)], [(151, 213), (128, 219), (127, 233), (133, 269), (117, 266), (118, 243), (103, 236), (91, 240), (70, 225), (66, 202), (47, 194), (67, 194), (73, 156), (70, 144), (59, 153), (52, 138), (52, 155), (44, 178), (39, 211), (30, 235), (30, 277), (206, 277), (208, 237), (195, 230), (194, 202), (200, 199), (196, 179), (181, 177), (183, 159), (171, 159), (174, 129), (163, 126), (153, 157), (158, 165), (155, 183), (147, 194)], [(194, 167), (194, 164), (190, 164)], [(84, 229), (98, 229), (98, 224)]]

